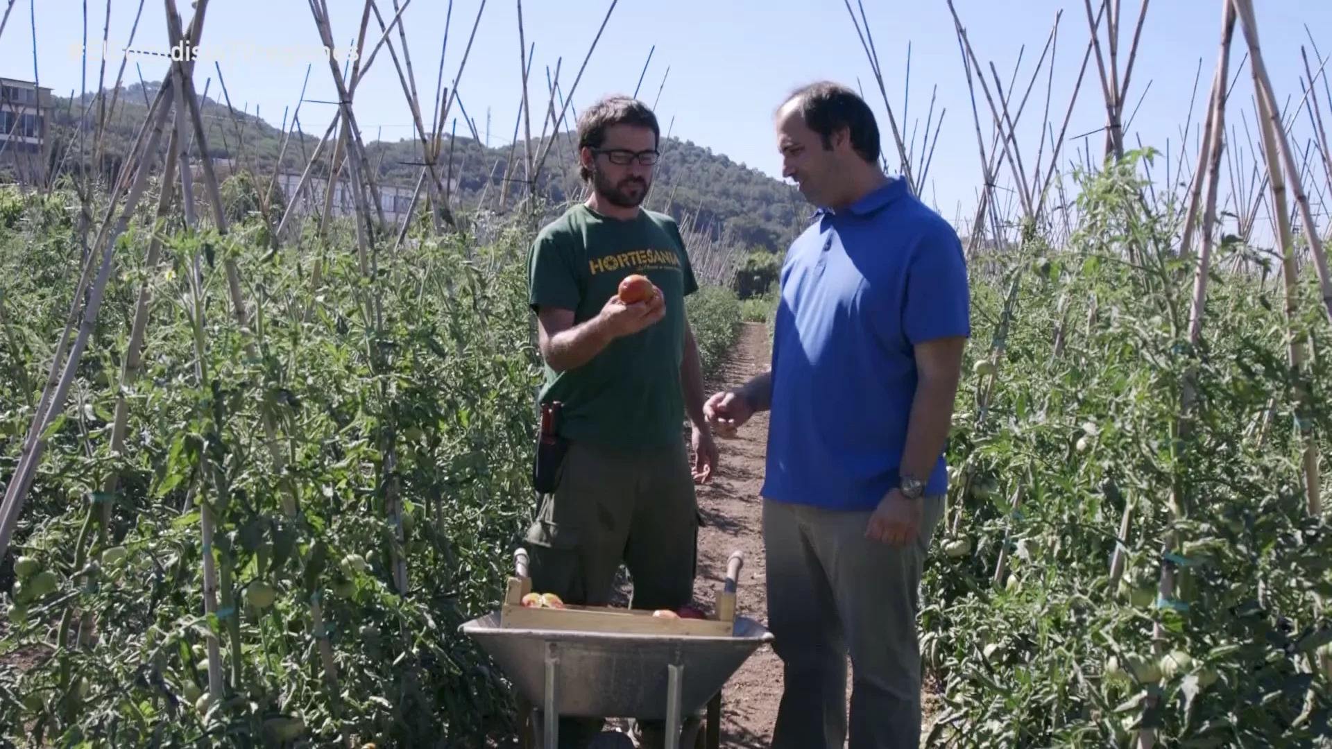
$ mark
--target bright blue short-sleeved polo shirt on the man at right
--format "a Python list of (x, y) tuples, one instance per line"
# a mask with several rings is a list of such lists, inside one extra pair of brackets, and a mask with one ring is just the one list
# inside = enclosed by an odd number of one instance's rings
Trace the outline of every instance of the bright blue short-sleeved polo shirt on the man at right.
[[(900, 179), (819, 211), (782, 265), (773, 410), (761, 494), (874, 509), (899, 484), (916, 368), (912, 345), (970, 336), (958, 233)], [(947, 489), (940, 454), (926, 494)]]

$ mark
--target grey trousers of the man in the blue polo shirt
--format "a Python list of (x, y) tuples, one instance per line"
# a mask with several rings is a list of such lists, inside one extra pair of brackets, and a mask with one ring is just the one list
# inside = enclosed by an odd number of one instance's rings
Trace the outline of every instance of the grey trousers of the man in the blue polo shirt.
[(920, 570), (943, 514), (923, 498), (916, 542), (870, 541), (870, 512), (763, 502), (767, 622), (785, 690), (771, 749), (919, 749)]

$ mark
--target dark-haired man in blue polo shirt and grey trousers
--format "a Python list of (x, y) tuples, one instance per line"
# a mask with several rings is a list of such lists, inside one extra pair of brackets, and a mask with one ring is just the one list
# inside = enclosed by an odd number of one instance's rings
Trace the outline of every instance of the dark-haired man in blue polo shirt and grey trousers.
[(883, 175), (846, 87), (777, 112), (783, 175), (818, 208), (786, 255), (771, 369), (714, 394), (733, 432), (771, 410), (762, 488), (769, 628), (785, 664), (773, 749), (920, 741), (920, 568), (943, 514), (944, 444), (966, 341), (962, 243)]

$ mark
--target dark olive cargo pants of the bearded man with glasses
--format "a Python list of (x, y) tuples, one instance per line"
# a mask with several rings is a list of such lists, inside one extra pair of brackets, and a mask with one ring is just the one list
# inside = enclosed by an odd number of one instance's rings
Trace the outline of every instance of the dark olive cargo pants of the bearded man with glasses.
[[(525, 542), (531, 589), (566, 604), (607, 605), (621, 562), (633, 578), (631, 608), (690, 602), (698, 501), (685, 440), (642, 452), (571, 442), (555, 492), (542, 498)], [(561, 749), (583, 749), (602, 725), (561, 718)]]

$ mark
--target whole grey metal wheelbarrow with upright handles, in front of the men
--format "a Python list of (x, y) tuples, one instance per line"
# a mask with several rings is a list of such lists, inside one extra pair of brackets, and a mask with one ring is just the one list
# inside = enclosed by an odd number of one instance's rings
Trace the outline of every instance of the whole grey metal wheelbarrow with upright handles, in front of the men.
[[(523, 605), (531, 593), (527, 553), (514, 552), (498, 612), (461, 630), (474, 637), (513, 680), (527, 741), (558, 748), (559, 717), (639, 718), (666, 724), (666, 749), (717, 749), (722, 686), (773, 634), (735, 616), (743, 556), (731, 554), (711, 618), (677, 618), (614, 606)], [(703, 730), (697, 713), (707, 705)], [(530, 706), (541, 706), (541, 712)], [(525, 744), (530, 746), (530, 744)]]

